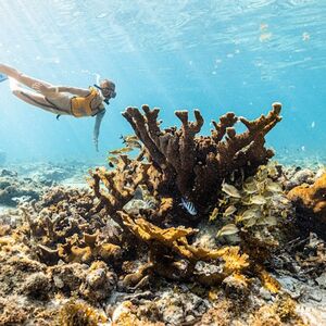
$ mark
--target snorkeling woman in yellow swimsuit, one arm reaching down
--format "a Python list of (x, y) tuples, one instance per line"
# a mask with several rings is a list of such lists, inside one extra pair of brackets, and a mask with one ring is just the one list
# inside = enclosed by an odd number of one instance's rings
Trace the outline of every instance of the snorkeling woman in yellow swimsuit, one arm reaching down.
[[(98, 151), (100, 126), (105, 114), (104, 103), (109, 104), (114, 99), (115, 85), (109, 79), (98, 78), (95, 87), (75, 88), (70, 86), (53, 86), (47, 82), (27, 76), (17, 70), (0, 64), (2, 80), (9, 77), (12, 93), (32, 105), (60, 115), (73, 115), (75, 117), (96, 116), (93, 128), (93, 142)], [(33, 89), (23, 88), (20, 84)]]

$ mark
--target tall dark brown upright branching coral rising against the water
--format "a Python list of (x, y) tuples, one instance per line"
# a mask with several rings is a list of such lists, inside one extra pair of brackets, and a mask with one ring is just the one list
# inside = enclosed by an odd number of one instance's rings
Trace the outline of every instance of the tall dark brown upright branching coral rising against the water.
[[(161, 129), (160, 110), (150, 110), (148, 105), (142, 105), (143, 114), (137, 108), (127, 108), (123, 115), (145, 145), (150, 162), (162, 174), (160, 195), (179, 193), (204, 204), (234, 171), (246, 168), (246, 173), (252, 173), (273, 156), (273, 151), (264, 148), (264, 137), (280, 121), (280, 109), (279, 103), (274, 103), (266, 116), (254, 121), (227, 113), (220, 123), (213, 122), (215, 130), (205, 137), (197, 136), (203, 125), (199, 110), (195, 110), (195, 122), (189, 122), (187, 111), (177, 111), (179, 129)], [(234, 128), (238, 121), (248, 128), (239, 135)]]

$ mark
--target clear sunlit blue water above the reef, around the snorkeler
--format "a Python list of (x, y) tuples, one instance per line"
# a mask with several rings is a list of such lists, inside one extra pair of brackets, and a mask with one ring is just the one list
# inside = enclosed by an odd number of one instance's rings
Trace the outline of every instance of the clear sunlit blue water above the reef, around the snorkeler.
[(284, 104), (267, 146), (280, 159), (326, 161), (326, 1), (1, 0), (0, 62), (57, 85), (116, 83), (100, 135), (93, 118), (26, 104), (0, 84), (0, 150), (8, 161), (104, 161), (131, 128), (121, 112), (148, 103), (164, 125), (199, 108), (249, 118)]

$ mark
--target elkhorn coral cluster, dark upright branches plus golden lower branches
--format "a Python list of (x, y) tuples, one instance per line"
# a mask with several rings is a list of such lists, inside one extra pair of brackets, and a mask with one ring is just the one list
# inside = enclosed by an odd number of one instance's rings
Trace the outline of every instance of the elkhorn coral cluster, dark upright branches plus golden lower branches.
[[(273, 152), (264, 148), (264, 136), (280, 121), (280, 108), (279, 103), (274, 103), (267, 116), (262, 115), (252, 122), (227, 113), (221, 117), (218, 124), (213, 123), (215, 130), (208, 137), (196, 136), (203, 125), (198, 110), (195, 111), (195, 123), (188, 121), (187, 112), (176, 112), (176, 116), (181, 121), (181, 128), (162, 130), (158, 124), (158, 109), (150, 110), (143, 105), (142, 115), (138, 109), (128, 108), (123, 115), (143, 143), (141, 155), (135, 160), (120, 155), (115, 170), (106, 171), (101, 167), (90, 172), (90, 187), (100, 200), (97, 211), (104, 209), (125, 234), (133, 234), (145, 242), (149, 251), (148, 261), (152, 264), (151, 271), (165, 274), (165, 277), (189, 277), (196, 269), (197, 262), (206, 261), (210, 264), (215, 261), (216, 264), (216, 260), (220, 265), (218, 273), (213, 272), (216, 283), (221, 283), (233, 273), (240, 273), (249, 263), (248, 256), (241, 254), (239, 248), (208, 250), (195, 247), (189, 242), (197, 233), (193, 228), (167, 226), (178, 225), (183, 221), (179, 218), (179, 212), (183, 210), (177, 204), (180, 197), (185, 206), (190, 208), (195, 204), (203, 208), (203, 203), (209, 206), (221, 193), (218, 188), (225, 178), (252, 175), (272, 156)], [(237, 135), (234, 128), (238, 120), (248, 128), (240, 135)], [(148, 162), (142, 162), (145, 158)], [(267, 181), (268, 187), (273, 188), (271, 179), (256, 183)], [(101, 187), (101, 184), (104, 187)], [(154, 205), (138, 210), (134, 214), (121, 211), (139, 188), (142, 197), (145, 192), (152, 193)], [(260, 197), (259, 190), (258, 193), (251, 193)], [(264, 191), (265, 189), (262, 190)], [(173, 197), (170, 197), (172, 193)], [(273, 192), (269, 197), (272, 196)], [(184, 198), (191, 199), (193, 203), (186, 203)], [(195, 211), (193, 208), (189, 208), (188, 211)], [(260, 225), (271, 224), (269, 220), (274, 218), (269, 216), (271, 211), (272, 209), (255, 218)], [(203, 217), (204, 211), (201, 210), (198, 215)], [(133, 237), (125, 240), (134, 241)], [(161, 268), (163, 265), (165, 268)], [(200, 273), (198, 276), (203, 283), (209, 278)]]

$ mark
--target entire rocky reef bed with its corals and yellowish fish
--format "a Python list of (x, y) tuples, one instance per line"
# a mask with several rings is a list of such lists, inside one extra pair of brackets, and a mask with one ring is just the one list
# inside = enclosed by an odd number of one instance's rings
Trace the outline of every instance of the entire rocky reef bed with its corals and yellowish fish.
[(127, 108), (137, 153), (0, 212), (0, 325), (326, 323), (325, 167), (271, 162), (280, 109), (202, 136)]

